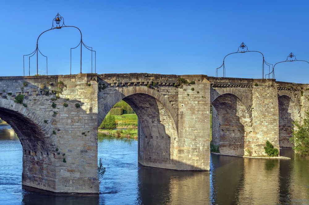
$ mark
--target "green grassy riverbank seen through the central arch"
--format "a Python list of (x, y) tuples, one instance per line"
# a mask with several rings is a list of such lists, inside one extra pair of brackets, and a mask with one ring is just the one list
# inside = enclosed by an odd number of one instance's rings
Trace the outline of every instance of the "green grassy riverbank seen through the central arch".
[(106, 129), (100, 126), (98, 131), (119, 137), (138, 137), (138, 118), (136, 114), (114, 115), (114, 117), (116, 119), (116, 129)]

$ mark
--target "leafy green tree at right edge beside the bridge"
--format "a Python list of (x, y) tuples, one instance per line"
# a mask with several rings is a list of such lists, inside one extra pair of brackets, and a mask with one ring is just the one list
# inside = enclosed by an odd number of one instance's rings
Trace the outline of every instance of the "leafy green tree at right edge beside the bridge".
[(293, 122), (294, 129), (289, 140), (294, 144), (293, 149), (302, 155), (309, 156), (309, 111), (306, 112), (306, 117), (303, 123)]

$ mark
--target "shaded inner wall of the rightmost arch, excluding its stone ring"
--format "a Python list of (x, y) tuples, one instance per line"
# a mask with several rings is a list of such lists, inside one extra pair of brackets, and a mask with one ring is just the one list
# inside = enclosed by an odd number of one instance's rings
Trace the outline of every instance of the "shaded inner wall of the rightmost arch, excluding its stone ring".
[(278, 98), (279, 106), (279, 146), (280, 147), (293, 147), (289, 139), (292, 137), (292, 127), (295, 120), (294, 106), (292, 105), (291, 98), (282, 95)]

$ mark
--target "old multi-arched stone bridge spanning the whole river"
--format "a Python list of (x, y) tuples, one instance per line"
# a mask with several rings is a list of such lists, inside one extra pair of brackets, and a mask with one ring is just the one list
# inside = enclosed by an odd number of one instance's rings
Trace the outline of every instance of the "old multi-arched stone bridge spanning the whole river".
[[(181, 83), (184, 78), (191, 84)], [(206, 75), (78, 74), (0, 77), (0, 118), (23, 146), (22, 184), (98, 193), (98, 127), (121, 99), (138, 115), (138, 162), (209, 170), (221, 153), (290, 147), (291, 121), (308, 108), (309, 85)]]

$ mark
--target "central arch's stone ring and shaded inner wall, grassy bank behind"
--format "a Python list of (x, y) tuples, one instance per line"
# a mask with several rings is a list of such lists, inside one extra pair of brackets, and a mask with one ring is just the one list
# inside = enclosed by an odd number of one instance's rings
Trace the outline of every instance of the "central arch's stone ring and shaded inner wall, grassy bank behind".
[[(113, 88), (111, 88), (113, 89)], [(177, 115), (171, 103), (159, 92), (146, 86), (117, 90), (98, 113), (100, 124), (120, 100), (127, 102), (138, 115), (138, 161), (142, 165), (177, 169), (174, 147), (177, 146)]]

